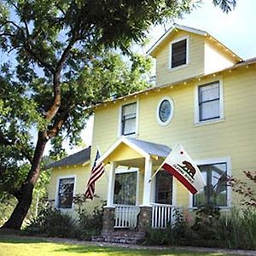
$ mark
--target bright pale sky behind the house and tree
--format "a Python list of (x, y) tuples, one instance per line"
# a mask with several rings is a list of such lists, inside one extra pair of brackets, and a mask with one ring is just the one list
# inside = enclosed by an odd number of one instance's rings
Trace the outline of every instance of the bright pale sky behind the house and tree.
[[(242, 59), (256, 57), (256, 0), (237, 0), (236, 9), (229, 14), (224, 14), (221, 9), (214, 7), (212, 0), (205, 0), (200, 7), (175, 22), (208, 32)], [(150, 43), (142, 50), (143, 53), (146, 53), (164, 32), (163, 26), (152, 28), (148, 34)], [(91, 144), (92, 129), (91, 118), (82, 132), (84, 146)], [(67, 149), (67, 153), (73, 154), (80, 149)]]

